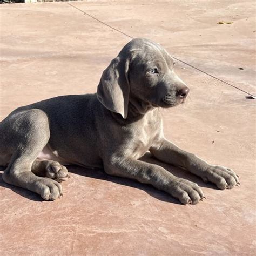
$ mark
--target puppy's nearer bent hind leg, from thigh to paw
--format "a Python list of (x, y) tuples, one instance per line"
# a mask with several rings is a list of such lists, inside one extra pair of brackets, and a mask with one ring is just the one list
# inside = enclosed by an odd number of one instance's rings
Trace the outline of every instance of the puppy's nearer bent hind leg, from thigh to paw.
[(38, 109), (13, 112), (0, 124), (1, 151), (12, 155), (3, 180), (26, 188), (45, 200), (62, 195), (62, 186), (55, 180), (32, 173), (32, 164), (48, 143), (50, 128), (48, 116)]

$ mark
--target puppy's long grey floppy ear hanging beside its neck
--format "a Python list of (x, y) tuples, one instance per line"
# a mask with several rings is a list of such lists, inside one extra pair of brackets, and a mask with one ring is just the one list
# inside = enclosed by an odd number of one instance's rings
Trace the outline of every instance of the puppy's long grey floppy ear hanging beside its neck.
[(127, 117), (130, 85), (128, 80), (130, 60), (114, 58), (103, 71), (97, 89), (97, 97), (107, 109)]

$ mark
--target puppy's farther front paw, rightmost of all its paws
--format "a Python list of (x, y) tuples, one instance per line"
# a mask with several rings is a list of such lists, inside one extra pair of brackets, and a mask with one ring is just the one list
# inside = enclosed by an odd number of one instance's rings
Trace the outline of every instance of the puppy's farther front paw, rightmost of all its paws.
[(202, 179), (207, 183), (211, 181), (221, 190), (240, 186), (239, 176), (229, 168), (219, 165), (210, 165), (202, 175)]

